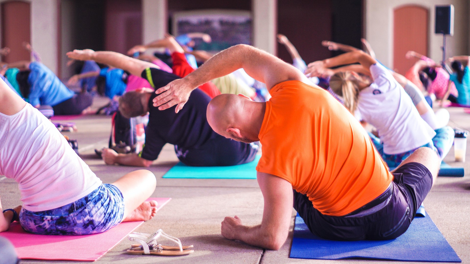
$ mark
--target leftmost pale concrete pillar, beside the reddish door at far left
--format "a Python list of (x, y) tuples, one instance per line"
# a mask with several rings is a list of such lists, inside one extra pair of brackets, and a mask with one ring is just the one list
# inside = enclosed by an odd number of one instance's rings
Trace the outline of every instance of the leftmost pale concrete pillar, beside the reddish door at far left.
[(58, 73), (58, 12), (57, 0), (31, 1), (31, 45), (42, 63)]

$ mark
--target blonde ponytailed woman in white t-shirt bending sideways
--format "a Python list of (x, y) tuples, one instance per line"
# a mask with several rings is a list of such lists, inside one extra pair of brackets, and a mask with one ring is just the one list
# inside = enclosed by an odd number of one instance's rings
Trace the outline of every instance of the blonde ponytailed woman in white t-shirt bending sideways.
[(452, 147), (453, 129), (444, 126), (434, 131), (392, 73), (370, 55), (352, 51), (309, 66), (326, 69), (357, 62), (370, 70), (372, 81), (356, 72), (338, 72), (331, 77), (330, 87), (343, 97), (351, 113), (358, 111), (362, 120), (376, 127), (380, 140), (372, 140), (387, 165), (397, 167), (420, 147), (434, 149), (442, 160)]

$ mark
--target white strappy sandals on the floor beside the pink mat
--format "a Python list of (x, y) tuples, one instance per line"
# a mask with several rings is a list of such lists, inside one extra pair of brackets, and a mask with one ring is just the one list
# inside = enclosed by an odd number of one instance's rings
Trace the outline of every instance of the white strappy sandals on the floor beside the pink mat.
[[(162, 246), (157, 244), (157, 239), (163, 236), (175, 243), (178, 244), (177, 247)], [(131, 255), (159, 255), (159, 256), (180, 256), (193, 253), (193, 245), (184, 246), (181, 244), (181, 241), (173, 236), (170, 236), (163, 232), (163, 230), (158, 229), (157, 232), (153, 234), (133, 232), (129, 234), (129, 240), (139, 242), (140, 244), (133, 244), (131, 248), (127, 249), (127, 253)]]

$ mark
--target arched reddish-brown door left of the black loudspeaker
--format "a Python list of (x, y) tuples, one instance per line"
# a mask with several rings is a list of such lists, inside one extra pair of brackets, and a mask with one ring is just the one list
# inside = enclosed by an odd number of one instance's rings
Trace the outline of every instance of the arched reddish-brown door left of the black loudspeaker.
[(413, 5), (393, 11), (393, 69), (400, 74), (415, 62), (405, 58), (408, 50), (428, 54), (428, 13), (428, 9)]

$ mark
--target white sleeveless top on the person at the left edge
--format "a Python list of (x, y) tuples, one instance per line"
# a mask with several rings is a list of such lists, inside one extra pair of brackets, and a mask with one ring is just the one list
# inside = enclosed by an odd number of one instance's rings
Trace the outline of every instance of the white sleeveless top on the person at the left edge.
[(63, 135), (31, 104), (0, 113), (0, 175), (19, 184), (23, 207), (51, 210), (75, 202), (102, 184)]

